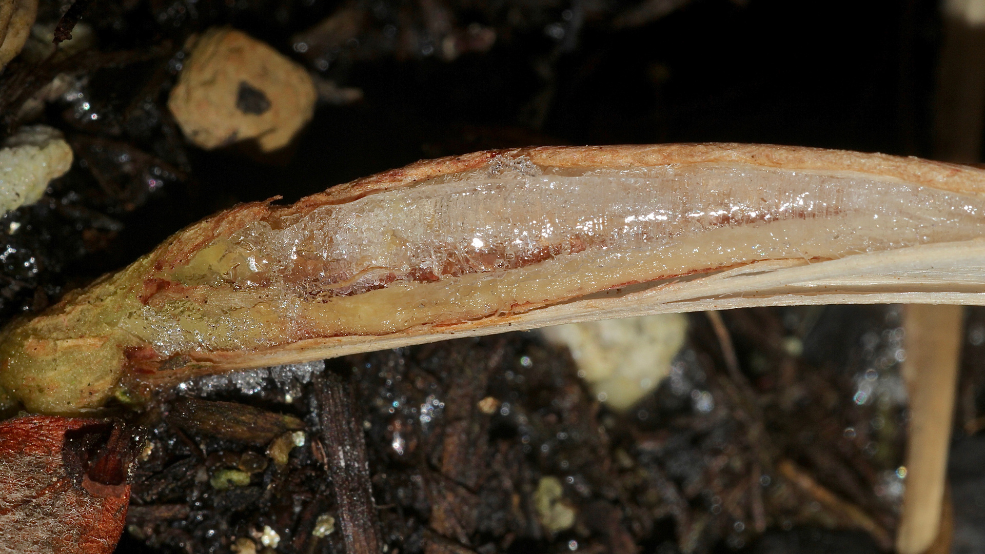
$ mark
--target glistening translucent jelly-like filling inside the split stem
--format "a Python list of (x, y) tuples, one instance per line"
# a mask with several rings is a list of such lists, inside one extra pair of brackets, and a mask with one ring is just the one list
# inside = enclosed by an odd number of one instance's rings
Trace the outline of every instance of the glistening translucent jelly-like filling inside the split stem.
[[(700, 165), (475, 172), (258, 222), (223, 245), (227, 263), (210, 281), (283, 278), (316, 299), (558, 256), (665, 252), (662, 274), (640, 276), (652, 279), (978, 236), (983, 208), (979, 198), (858, 174)], [(703, 266), (693, 266), (695, 254)]]

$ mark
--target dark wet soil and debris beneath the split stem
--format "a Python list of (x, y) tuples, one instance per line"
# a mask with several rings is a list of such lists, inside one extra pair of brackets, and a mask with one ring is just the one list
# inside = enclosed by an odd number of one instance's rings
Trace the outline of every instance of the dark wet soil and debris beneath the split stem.
[[(808, 552), (846, 540), (853, 551), (878, 551), (865, 533), (847, 532), (858, 521), (776, 465), (812, 475), (892, 529), (898, 493), (886, 490), (886, 475), (899, 465), (903, 412), (887, 396), (851, 401), (851, 378), (898, 347), (897, 317), (885, 307), (728, 312), (750, 368), (739, 384), (709, 324), (694, 315), (671, 378), (628, 414), (591, 397), (567, 353), (534, 333), (328, 361), (328, 374), (352, 383), (351, 417), (364, 432), (378, 529), (371, 519), (360, 524), (389, 550), (408, 553), (775, 552), (790, 544)], [(784, 341), (788, 349), (801, 341), (804, 355), (784, 351)], [(265, 526), (280, 536), (281, 552), (345, 551), (338, 530), (346, 509), (326, 456), (346, 438), (324, 425), (315, 366), (313, 374), (304, 366), (192, 381), (164, 398), (152, 450), (137, 465), (131, 536), (119, 551), (141, 551), (141, 539), (164, 550), (225, 552)], [(880, 375), (898, 379), (891, 367)], [(701, 393), (710, 404), (697, 400)], [(184, 395), (266, 412), (232, 417), (208, 402), (189, 409)], [(271, 437), (288, 431), (265, 431), (262, 421), (279, 421), (274, 413), (304, 422), (304, 446), (285, 467), (268, 459), (248, 483), (218, 490), (217, 475), (241, 470), (244, 457), (265, 458)], [(556, 533), (537, 507), (545, 478), (558, 480), (561, 502), (576, 514)], [(311, 531), (323, 514), (337, 532), (319, 538)]]

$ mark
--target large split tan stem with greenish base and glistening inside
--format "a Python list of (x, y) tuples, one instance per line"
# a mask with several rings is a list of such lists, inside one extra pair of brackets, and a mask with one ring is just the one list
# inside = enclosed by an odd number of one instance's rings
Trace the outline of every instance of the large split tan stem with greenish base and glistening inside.
[(0, 406), (749, 306), (985, 304), (985, 172), (807, 148), (545, 147), (243, 204), (0, 332)]

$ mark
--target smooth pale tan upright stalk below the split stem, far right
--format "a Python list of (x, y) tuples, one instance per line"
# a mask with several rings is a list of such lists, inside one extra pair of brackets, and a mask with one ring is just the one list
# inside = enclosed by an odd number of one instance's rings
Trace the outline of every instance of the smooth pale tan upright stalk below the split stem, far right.
[(906, 307), (903, 377), (909, 388), (911, 415), (906, 491), (896, 533), (900, 554), (927, 550), (941, 525), (962, 314), (959, 306)]

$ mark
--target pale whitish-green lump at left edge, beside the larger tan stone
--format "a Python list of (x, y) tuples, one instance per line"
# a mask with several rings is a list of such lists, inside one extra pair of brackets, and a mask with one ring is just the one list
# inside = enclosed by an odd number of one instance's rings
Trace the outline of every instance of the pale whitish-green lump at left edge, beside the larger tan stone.
[(0, 149), (0, 215), (44, 194), (51, 179), (72, 167), (72, 149), (47, 125), (22, 127)]

